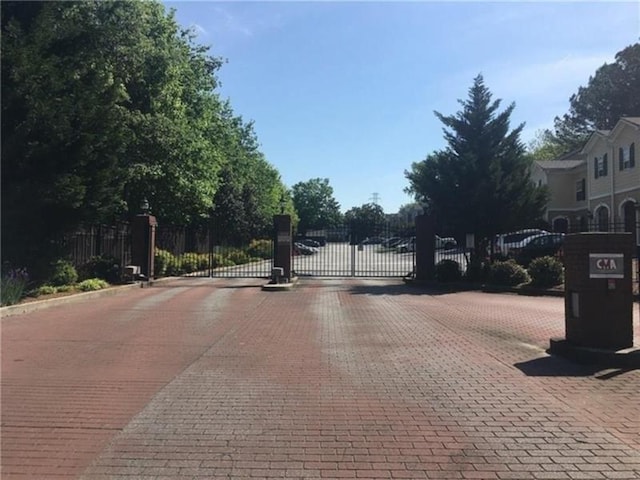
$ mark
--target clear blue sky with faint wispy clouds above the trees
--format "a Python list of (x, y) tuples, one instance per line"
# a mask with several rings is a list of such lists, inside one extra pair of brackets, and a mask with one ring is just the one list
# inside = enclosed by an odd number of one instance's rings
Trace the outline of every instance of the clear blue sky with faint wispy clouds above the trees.
[(283, 182), (328, 178), (343, 212), (412, 201), (404, 171), (444, 146), (434, 110), (477, 74), (528, 142), (640, 38), (638, 1), (164, 3), (226, 59), (219, 93)]

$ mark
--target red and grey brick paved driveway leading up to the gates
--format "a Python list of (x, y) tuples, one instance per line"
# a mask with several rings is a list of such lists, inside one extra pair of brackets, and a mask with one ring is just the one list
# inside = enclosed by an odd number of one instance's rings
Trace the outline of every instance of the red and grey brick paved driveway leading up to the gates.
[(547, 356), (562, 299), (258, 282), (4, 318), (2, 478), (640, 478), (640, 371)]

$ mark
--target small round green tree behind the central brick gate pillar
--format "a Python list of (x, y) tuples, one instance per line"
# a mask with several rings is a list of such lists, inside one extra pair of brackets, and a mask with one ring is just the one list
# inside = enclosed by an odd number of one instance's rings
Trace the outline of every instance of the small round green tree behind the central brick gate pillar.
[(312, 178), (292, 188), (293, 205), (300, 219), (300, 232), (337, 227), (342, 222), (340, 204), (333, 197), (328, 178)]

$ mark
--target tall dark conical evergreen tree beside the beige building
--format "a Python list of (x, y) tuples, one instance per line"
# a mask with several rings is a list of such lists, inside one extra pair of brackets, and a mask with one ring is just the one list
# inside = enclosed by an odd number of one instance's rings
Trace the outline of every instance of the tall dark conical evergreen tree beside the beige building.
[(481, 75), (460, 104), (455, 115), (435, 112), (445, 125), (447, 147), (405, 172), (407, 191), (435, 215), (440, 229), (474, 233), (480, 248), (483, 239), (536, 222), (547, 195), (530, 180), (523, 125), (509, 131), (515, 105), (499, 112), (500, 100), (492, 101)]

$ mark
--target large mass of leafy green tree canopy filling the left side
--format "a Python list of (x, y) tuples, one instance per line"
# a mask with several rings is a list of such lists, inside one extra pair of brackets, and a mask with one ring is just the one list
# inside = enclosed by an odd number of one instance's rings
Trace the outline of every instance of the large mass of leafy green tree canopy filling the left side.
[(143, 199), (164, 224), (215, 211), (259, 229), (277, 212), (286, 188), (216, 93), (222, 61), (161, 3), (1, 9), (5, 259), (53, 255), (60, 235), (127, 220)]

